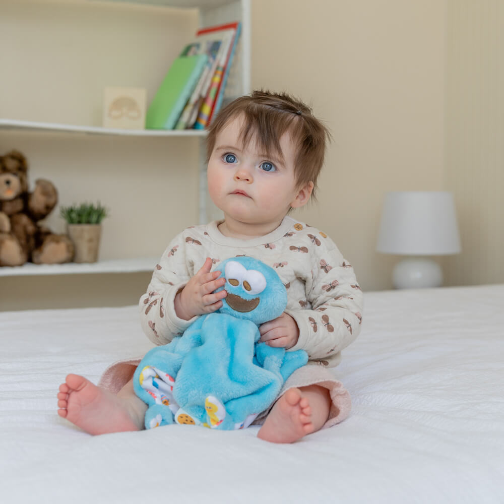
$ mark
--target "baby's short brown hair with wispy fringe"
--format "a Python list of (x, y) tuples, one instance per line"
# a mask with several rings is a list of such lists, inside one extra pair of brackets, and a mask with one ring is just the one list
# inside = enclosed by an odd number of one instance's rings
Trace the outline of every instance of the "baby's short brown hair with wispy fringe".
[(240, 139), (243, 145), (255, 141), (265, 152), (282, 156), (280, 139), (288, 132), (297, 155), (294, 173), (298, 187), (313, 182), (315, 198), (317, 178), (324, 163), (327, 141), (331, 135), (311, 108), (287, 93), (253, 91), (225, 106), (208, 128), (207, 159), (210, 159), (218, 133), (236, 117), (243, 117)]

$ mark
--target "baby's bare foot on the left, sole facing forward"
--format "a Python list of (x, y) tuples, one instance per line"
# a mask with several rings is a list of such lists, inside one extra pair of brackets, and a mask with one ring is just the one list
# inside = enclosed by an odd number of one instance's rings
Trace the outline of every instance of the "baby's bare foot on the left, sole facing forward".
[(127, 404), (78, 374), (59, 386), (58, 415), (90, 434), (139, 430)]

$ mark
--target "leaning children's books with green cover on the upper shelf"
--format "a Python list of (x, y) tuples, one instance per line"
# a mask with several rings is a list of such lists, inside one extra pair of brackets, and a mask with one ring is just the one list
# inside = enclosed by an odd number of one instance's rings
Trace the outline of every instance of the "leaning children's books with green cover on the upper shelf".
[(217, 113), (240, 35), (240, 23), (202, 28), (173, 61), (149, 108), (151, 130), (204, 130)]

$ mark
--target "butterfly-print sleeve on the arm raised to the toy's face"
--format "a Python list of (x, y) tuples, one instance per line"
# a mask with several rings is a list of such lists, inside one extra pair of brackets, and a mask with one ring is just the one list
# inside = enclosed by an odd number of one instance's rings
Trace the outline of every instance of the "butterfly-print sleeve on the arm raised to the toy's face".
[(156, 345), (169, 343), (198, 318), (186, 321), (175, 313), (175, 295), (192, 276), (187, 264), (184, 236), (180, 233), (164, 251), (154, 269), (147, 292), (139, 301), (142, 329)]

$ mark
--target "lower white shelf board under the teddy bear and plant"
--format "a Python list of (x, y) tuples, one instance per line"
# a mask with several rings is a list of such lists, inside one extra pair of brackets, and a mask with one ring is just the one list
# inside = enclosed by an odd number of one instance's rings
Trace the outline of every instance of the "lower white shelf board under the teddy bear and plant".
[(76, 275), (153, 271), (159, 258), (112, 259), (97, 263), (33, 264), (0, 267), (1, 276)]

